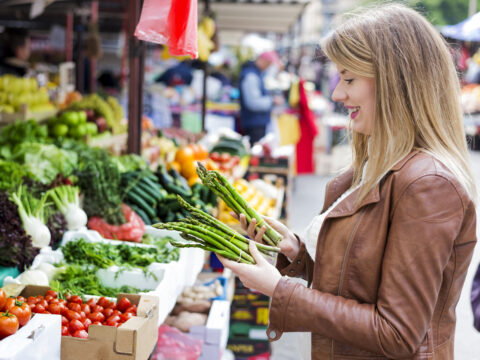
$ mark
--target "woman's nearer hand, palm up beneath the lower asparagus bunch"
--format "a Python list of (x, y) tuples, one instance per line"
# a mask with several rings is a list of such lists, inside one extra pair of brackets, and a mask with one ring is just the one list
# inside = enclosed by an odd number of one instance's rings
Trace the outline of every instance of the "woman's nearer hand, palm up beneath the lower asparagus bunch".
[(224, 267), (237, 274), (244, 286), (260, 291), (262, 294), (271, 297), (282, 275), (280, 275), (280, 272), (275, 266), (270, 264), (262, 254), (260, 254), (252, 240), (250, 241), (248, 249), (255, 259), (255, 265), (228, 260), (218, 254), (217, 257)]

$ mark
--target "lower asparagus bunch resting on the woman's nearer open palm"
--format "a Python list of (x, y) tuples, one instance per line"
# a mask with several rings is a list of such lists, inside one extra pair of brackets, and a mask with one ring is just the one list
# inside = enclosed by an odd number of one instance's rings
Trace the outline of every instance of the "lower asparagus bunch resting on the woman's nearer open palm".
[[(186, 241), (170, 240), (170, 243), (176, 247), (198, 247), (207, 251), (213, 251), (228, 259), (254, 264), (255, 260), (248, 250), (249, 240), (235, 232), (225, 224), (221, 223), (213, 216), (197, 209), (180, 196), (178, 201), (192, 217), (185, 218), (178, 222), (159, 223), (153, 225), (158, 229), (167, 229), (180, 232), (180, 236)], [(279, 248), (260, 243), (256, 243), (258, 250), (272, 256), (278, 252)]]

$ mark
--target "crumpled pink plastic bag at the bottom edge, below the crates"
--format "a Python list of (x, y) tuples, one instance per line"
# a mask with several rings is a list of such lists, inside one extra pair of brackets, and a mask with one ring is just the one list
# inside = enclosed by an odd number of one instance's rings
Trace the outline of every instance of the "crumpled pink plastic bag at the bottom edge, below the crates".
[(177, 328), (162, 325), (158, 328), (158, 342), (151, 360), (197, 360), (203, 341), (193, 339)]

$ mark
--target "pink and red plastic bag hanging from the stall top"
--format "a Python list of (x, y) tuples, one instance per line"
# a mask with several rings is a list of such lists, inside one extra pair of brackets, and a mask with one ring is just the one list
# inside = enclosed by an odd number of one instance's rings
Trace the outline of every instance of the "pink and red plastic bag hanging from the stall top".
[(196, 59), (197, 26), (197, 0), (145, 0), (135, 36)]

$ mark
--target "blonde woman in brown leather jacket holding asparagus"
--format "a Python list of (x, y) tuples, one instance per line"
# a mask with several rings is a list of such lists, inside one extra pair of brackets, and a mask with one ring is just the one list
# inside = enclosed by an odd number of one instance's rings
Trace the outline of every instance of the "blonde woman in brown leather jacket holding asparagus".
[[(303, 238), (269, 221), (283, 235), (276, 267), (252, 244), (256, 265), (222, 262), (271, 296), (269, 339), (311, 332), (312, 359), (453, 359), (476, 190), (450, 53), (401, 5), (349, 18), (323, 49), (350, 111), (352, 166)], [(259, 241), (264, 228), (240, 220)]]

